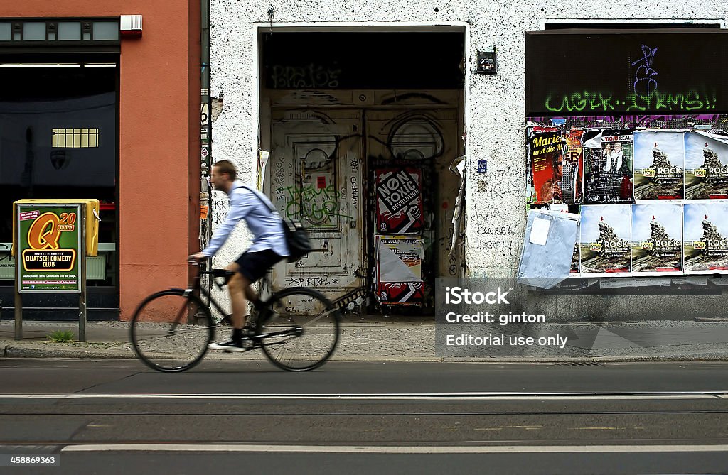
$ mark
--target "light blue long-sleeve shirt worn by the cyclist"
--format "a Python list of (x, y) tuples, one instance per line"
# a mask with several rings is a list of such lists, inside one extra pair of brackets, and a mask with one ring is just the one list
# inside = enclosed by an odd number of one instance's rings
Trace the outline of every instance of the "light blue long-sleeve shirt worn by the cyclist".
[[(253, 234), (253, 244), (248, 252), (258, 252), (266, 249), (272, 250), (277, 255), (287, 256), (288, 245), (285, 243), (285, 233), (280, 215), (271, 212), (273, 205), (263, 193), (253, 191), (252, 188), (242, 188), (244, 184), (235, 180), (230, 191), (230, 212), (213, 233), (210, 244), (207, 245), (202, 254), (208, 258), (213, 257), (220, 247), (225, 244), (230, 233), (240, 220), (245, 220), (250, 233)], [(263, 204), (260, 196), (265, 202)]]

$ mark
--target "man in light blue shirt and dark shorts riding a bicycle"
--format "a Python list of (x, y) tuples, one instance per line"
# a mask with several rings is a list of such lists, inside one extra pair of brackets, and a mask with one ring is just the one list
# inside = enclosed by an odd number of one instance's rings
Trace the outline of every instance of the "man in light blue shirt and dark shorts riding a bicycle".
[(277, 213), (271, 212), (273, 206), (270, 200), (263, 193), (245, 186), (241, 180), (236, 180), (236, 175), (235, 166), (229, 160), (220, 160), (213, 164), (210, 184), (215, 190), (224, 191), (230, 197), (230, 211), (225, 221), (213, 233), (205, 250), (189, 256), (198, 263), (212, 258), (225, 244), (240, 220), (245, 220), (253, 234), (253, 244), (240, 258), (226, 267), (233, 272), (228, 282), (232, 304), (232, 339), (223, 343), (210, 343), (207, 348), (211, 350), (245, 351), (242, 346), (242, 328), (248, 310), (245, 299), (253, 305), (258, 301), (258, 295), (251, 284), (264, 276), (279, 260), (288, 256), (283, 223)]

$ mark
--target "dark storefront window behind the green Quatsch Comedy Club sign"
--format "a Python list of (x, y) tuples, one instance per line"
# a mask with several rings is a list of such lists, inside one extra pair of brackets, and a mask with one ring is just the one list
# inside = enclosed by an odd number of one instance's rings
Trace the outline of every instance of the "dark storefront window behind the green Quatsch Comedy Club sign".
[(0, 243), (12, 242), (13, 201), (96, 198), (99, 242), (115, 247), (116, 68), (0, 68), (0, 77), (12, 84), (0, 92)]

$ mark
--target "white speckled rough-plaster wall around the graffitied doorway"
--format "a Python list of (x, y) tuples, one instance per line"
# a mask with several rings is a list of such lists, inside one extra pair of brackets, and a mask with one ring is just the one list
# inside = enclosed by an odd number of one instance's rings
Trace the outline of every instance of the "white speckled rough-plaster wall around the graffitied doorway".
[[(212, 90), (224, 96), (213, 124), (213, 156), (238, 164), (254, 183), (258, 127), (256, 34), (254, 24), (467, 22), (467, 266), (471, 275), (511, 274), (518, 266), (526, 223), (523, 32), (539, 30), (545, 19), (725, 20), (722, 1), (692, 4), (660, 1), (545, 0), (212, 0)], [(435, 11), (437, 9), (438, 11)], [(269, 16), (272, 11), (272, 17)], [(498, 49), (498, 74), (472, 73), (478, 50)], [(475, 173), (478, 159), (488, 173)], [(215, 217), (224, 215), (215, 200)], [(246, 247), (237, 234), (221, 251), (227, 263)]]

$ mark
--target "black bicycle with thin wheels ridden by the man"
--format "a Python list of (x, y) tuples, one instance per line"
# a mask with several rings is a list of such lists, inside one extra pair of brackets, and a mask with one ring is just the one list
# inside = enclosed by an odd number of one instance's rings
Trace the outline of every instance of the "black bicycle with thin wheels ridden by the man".
[[(139, 359), (162, 372), (181, 372), (199, 364), (207, 345), (215, 340), (216, 330), (232, 327), (232, 316), (202, 287), (201, 278), (210, 276), (222, 290), (231, 274), (226, 269), (207, 270), (203, 263), (188, 288), (162, 290), (142, 300), (131, 325), (132, 345)], [(272, 288), (267, 278), (262, 285)], [(210, 304), (222, 315), (219, 322), (213, 319)], [(261, 298), (255, 307), (250, 305), (243, 346), (247, 351), (261, 348), (282, 370), (314, 370), (336, 349), (339, 320), (339, 308), (317, 290), (288, 287)]]

